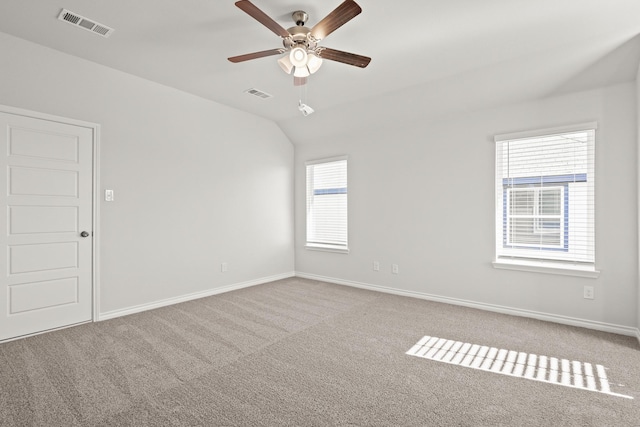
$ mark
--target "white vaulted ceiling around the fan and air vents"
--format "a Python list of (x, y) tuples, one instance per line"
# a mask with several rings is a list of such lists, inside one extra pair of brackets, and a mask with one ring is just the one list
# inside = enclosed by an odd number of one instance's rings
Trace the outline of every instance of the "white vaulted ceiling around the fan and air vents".
[[(341, 2), (251, 1), (284, 28), (295, 10), (312, 27)], [(324, 61), (303, 89), (277, 56), (227, 61), (282, 46), (234, 0), (1, 0), (0, 31), (271, 119), (294, 143), (631, 81), (640, 61), (638, 0), (357, 2), (320, 45), (371, 64)], [(63, 23), (62, 8), (115, 32)], [(301, 96), (314, 114), (298, 111)]]

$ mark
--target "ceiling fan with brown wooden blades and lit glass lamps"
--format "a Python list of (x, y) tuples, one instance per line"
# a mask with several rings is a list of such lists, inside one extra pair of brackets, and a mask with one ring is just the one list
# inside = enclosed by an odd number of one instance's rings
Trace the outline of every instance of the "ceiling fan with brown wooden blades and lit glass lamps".
[(232, 56), (228, 58), (231, 62), (249, 61), (251, 59), (280, 55), (288, 52), (287, 55), (284, 55), (278, 60), (278, 64), (287, 74), (291, 74), (293, 71), (293, 82), (296, 86), (305, 84), (307, 77), (318, 71), (323, 59), (342, 62), (343, 64), (360, 68), (365, 68), (369, 65), (369, 62), (371, 62), (371, 58), (367, 56), (318, 46), (318, 42), (362, 12), (362, 8), (353, 0), (345, 0), (342, 2), (340, 6), (335, 8), (311, 29), (304, 26), (309, 16), (301, 10), (291, 14), (296, 25), (289, 29), (284, 29), (249, 0), (237, 1), (236, 6), (276, 35), (280, 36), (284, 47)]

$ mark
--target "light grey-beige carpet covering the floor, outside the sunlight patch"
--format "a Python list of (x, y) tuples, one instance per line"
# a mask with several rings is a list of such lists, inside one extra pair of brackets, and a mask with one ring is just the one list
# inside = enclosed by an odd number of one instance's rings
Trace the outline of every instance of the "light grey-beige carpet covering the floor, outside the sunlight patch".
[[(405, 353), (607, 367), (606, 394)], [(632, 337), (292, 278), (0, 344), (2, 426), (640, 426)]]

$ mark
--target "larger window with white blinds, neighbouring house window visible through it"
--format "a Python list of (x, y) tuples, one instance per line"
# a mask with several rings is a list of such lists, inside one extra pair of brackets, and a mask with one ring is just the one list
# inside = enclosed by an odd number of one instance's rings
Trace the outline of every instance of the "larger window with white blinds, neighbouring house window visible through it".
[(593, 269), (596, 123), (496, 140), (496, 261)]

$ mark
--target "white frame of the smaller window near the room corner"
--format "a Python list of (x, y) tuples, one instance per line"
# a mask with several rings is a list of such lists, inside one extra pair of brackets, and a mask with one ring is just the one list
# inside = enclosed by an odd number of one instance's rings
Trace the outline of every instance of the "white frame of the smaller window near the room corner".
[[(311, 180), (310, 182), (310, 178), (309, 178), (309, 167), (310, 166), (316, 166), (316, 165), (321, 165), (321, 164), (326, 164), (326, 163), (333, 163), (333, 162), (339, 162), (339, 161), (344, 161), (345, 162), (345, 175), (346, 175), (346, 182), (345, 182), (345, 187), (335, 187), (335, 188), (326, 188), (326, 189), (314, 189), (314, 185), (313, 185), (313, 180)], [(344, 155), (344, 156), (335, 156), (335, 157), (328, 157), (328, 158), (322, 158), (322, 159), (316, 159), (316, 160), (310, 160), (305, 162), (305, 188), (306, 188), (306, 198), (305, 198), (305, 205), (306, 205), (306, 217), (305, 217), (305, 248), (308, 250), (314, 250), (314, 251), (325, 251), (325, 252), (336, 252), (336, 253), (344, 253), (344, 254), (348, 254), (349, 253), (349, 185), (348, 185), (348, 181), (349, 181), (349, 159), (348, 156)], [(313, 193), (313, 194), (312, 194)], [(346, 201), (345, 201), (345, 217), (344, 217), (344, 222), (345, 222), (345, 226), (346, 226), (346, 233), (345, 233), (345, 241), (344, 243), (337, 243), (337, 242), (330, 242), (330, 241), (322, 241), (319, 239), (310, 239), (310, 221), (314, 220), (313, 217), (313, 200), (315, 200), (316, 197), (318, 196), (323, 196), (323, 195), (337, 195), (337, 194), (344, 194), (346, 196)]]

